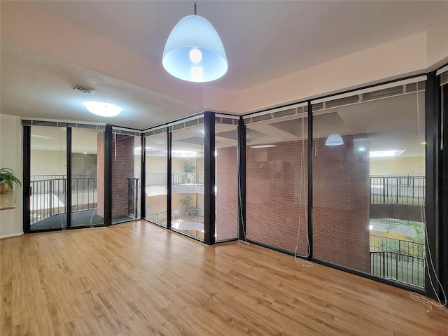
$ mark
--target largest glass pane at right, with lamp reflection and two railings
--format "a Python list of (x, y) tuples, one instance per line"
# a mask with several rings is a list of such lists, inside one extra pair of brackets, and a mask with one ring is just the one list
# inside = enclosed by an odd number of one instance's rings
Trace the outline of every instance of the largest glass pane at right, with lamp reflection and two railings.
[(423, 286), (424, 92), (313, 115), (314, 257)]

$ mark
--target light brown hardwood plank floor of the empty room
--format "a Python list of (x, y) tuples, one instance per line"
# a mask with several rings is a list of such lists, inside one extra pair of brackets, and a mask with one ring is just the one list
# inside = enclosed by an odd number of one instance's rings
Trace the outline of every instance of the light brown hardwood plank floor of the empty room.
[(144, 221), (2, 239), (1, 335), (448, 335), (405, 290)]

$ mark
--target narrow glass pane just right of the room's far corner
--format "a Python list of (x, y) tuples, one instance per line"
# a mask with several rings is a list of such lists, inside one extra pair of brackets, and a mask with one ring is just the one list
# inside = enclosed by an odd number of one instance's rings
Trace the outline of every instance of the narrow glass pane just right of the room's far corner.
[(146, 214), (167, 227), (167, 133), (146, 137)]

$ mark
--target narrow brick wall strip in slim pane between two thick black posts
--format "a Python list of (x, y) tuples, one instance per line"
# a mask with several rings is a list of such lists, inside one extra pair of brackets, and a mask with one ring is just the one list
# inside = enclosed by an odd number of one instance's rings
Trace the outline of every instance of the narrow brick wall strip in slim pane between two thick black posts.
[(216, 240), (238, 237), (237, 147), (218, 148), (216, 158)]

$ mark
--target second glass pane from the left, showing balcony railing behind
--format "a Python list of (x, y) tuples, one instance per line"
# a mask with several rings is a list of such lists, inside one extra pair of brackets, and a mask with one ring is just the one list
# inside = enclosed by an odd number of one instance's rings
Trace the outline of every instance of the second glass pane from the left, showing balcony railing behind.
[(104, 214), (98, 214), (98, 187), (104, 190), (104, 132), (73, 128), (71, 226), (104, 224)]

